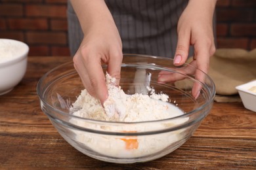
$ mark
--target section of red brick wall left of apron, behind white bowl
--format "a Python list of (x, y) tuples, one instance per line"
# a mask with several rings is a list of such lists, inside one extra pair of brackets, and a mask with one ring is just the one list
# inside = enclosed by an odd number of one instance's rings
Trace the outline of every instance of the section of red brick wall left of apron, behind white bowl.
[(30, 46), (30, 56), (70, 56), (66, 0), (0, 0), (0, 38)]

